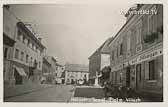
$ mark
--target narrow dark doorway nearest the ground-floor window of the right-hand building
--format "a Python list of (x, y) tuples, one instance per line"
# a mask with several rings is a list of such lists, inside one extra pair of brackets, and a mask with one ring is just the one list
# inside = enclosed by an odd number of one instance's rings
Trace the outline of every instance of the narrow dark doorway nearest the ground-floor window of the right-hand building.
[(141, 83), (141, 64), (136, 65), (136, 89), (140, 88)]

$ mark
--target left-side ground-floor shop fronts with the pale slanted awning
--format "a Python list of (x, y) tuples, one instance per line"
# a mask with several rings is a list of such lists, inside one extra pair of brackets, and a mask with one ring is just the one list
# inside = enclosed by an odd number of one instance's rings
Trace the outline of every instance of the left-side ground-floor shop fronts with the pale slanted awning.
[(4, 61), (4, 85), (40, 83), (41, 71), (12, 60)]

